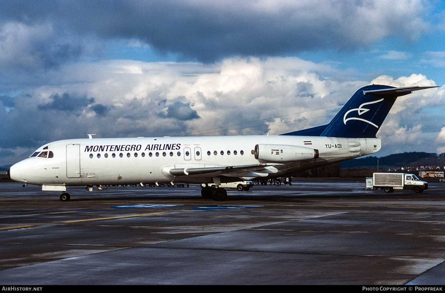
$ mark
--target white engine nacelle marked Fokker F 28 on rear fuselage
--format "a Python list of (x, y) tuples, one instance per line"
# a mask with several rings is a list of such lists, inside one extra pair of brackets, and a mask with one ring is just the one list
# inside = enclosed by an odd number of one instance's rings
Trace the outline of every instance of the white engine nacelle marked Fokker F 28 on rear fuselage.
[(295, 162), (318, 158), (318, 149), (286, 144), (257, 144), (254, 154), (255, 159), (267, 162)]

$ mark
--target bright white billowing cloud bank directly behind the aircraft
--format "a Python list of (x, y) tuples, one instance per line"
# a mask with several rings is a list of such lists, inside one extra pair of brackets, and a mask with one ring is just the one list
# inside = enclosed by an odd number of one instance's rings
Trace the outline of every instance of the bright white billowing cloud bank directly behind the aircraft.
[[(212, 64), (97, 61), (64, 65), (57, 75), (43, 78), (54, 82), (29, 88), (12, 101), (5, 98), (14, 107), (8, 112), (0, 107), (0, 148), (31, 153), (49, 141), (87, 133), (277, 135), (327, 124), (340, 104), (367, 84), (434, 84), (421, 74), (352, 80), (329, 65), (296, 57), (237, 57)], [(377, 135), (385, 151), (412, 150), (434, 141), (440, 128), (432, 134), (428, 125), (437, 121), (425, 120), (421, 111), (440, 105), (444, 95), (429, 89), (399, 97)]]

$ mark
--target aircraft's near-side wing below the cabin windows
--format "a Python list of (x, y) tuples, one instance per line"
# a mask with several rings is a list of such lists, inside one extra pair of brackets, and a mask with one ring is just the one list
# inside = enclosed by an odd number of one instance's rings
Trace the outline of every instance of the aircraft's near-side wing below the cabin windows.
[(198, 174), (208, 174), (208, 173), (219, 173), (225, 176), (245, 176), (247, 174), (253, 175), (253, 177), (267, 176), (270, 173), (277, 173), (278, 169), (274, 166), (283, 165), (275, 163), (263, 163), (263, 164), (253, 164), (253, 165), (238, 165), (238, 166), (215, 166), (206, 168), (180, 168), (180, 169), (170, 169), (169, 173), (174, 176), (186, 176), (186, 175), (198, 175)]

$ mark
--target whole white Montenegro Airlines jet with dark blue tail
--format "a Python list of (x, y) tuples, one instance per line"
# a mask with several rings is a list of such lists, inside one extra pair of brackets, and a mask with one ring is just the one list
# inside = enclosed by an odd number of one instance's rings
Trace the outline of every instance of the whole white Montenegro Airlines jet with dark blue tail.
[[(189, 136), (59, 140), (12, 165), (8, 176), (43, 191), (67, 186), (214, 184), (285, 176), (376, 153), (376, 133), (398, 96), (435, 86), (360, 88), (329, 124), (278, 136)], [(225, 189), (202, 197), (223, 201)]]

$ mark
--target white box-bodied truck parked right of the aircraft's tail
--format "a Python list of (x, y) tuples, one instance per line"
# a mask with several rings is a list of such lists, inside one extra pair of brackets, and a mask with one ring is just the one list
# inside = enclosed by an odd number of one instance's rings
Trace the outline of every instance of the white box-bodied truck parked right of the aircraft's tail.
[(409, 189), (422, 193), (428, 189), (428, 182), (420, 181), (416, 175), (408, 173), (373, 173), (372, 187), (389, 193), (394, 189)]

